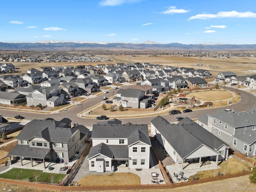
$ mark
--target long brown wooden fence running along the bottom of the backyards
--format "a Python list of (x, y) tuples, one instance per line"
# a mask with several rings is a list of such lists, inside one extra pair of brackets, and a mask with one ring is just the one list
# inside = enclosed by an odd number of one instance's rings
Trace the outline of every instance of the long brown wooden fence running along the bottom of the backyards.
[(20, 181), (20, 180), (10, 180), (10, 179), (4, 179), (4, 178), (0, 178), (0, 182), (21, 185), (21, 186), (59, 190), (59, 191), (172, 189), (172, 188), (178, 188), (178, 187), (183, 187), (183, 186), (190, 186), (190, 185), (194, 185), (194, 184), (202, 184), (202, 183), (206, 183), (206, 182), (212, 182), (212, 181), (218, 181), (218, 180), (223, 180), (223, 179), (245, 176), (245, 175), (249, 175), (251, 173), (252, 173), (252, 171), (250, 170), (250, 171), (244, 171), (244, 172), (239, 172), (239, 173), (234, 173), (234, 174), (221, 175), (221, 176), (216, 176), (216, 177), (212, 177), (212, 178), (198, 179), (198, 180), (192, 180), (192, 181), (188, 181), (188, 182), (181, 182), (181, 183), (175, 183), (175, 184), (148, 184), (148, 185), (56, 186), (56, 185), (38, 184), (38, 183), (34, 183), (34, 182), (24, 182), (24, 181)]

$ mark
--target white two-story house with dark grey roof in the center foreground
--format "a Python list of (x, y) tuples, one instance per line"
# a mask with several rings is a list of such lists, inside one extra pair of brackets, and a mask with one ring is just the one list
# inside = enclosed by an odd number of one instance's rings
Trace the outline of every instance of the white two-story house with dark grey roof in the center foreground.
[(89, 170), (111, 171), (112, 166), (150, 168), (150, 138), (147, 124), (94, 124)]

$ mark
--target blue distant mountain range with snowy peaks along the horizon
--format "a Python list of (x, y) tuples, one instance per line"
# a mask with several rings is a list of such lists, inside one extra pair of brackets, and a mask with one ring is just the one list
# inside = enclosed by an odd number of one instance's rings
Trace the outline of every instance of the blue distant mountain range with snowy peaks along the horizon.
[(256, 44), (160, 44), (155, 42), (143, 43), (92, 43), (92, 42), (0, 42), (0, 50), (182, 50), (198, 51), (245, 51), (256, 50)]

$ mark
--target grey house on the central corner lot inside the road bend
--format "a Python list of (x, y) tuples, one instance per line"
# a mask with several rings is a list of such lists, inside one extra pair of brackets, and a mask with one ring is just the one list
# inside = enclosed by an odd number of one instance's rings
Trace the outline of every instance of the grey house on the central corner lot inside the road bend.
[(145, 109), (148, 107), (148, 100), (151, 99), (145, 95), (145, 92), (139, 89), (120, 89), (113, 98), (113, 103), (117, 106)]

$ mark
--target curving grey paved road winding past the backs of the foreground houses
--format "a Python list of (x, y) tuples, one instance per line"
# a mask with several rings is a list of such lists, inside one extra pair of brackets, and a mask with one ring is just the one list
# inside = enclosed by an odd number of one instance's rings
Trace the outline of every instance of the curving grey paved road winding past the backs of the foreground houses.
[[(129, 86), (126, 86), (124, 88), (128, 88)], [(221, 87), (221, 86), (220, 86)], [(228, 90), (237, 92), (237, 89), (235, 88), (227, 88)], [(102, 94), (100, 96), (97, 96), (95, 98), (92, 98), (86, 102), (82, 103), (82, 106), (79, 104), (73, 108), (70, 108), (66, 111), (63, 112), (56, 112), (56, 114), (40, 114), (40, 113), (33, 113), (33, 112), (21, 112), (21, 111), (13, 111), (13, 110), (0, 110), (0, 115), (4, 117), (14, 117), (15, 115), (21, 115), (26, 117), (25, 120), (33, 120), (33, 119), (44, 119), (44, 118), (54, 118), (55, 120), (61, 120), (62, 118), (70, 118), (72, 122), (76, 122), (78, 124), (84, 125), (86, 127), (92, 127), (93, 124), (96, 123), (95, 118), (80, 118), (77, 116), (78, 113), (80, 113), (83, 110), (90, 109), (92, 106), (95, 104), (99, 104), (102, 102), (102, 97), (107, 96), (108, 98), (115, 95), (118, 90), (112, 90), (107, 94)], [(113, 93), (114, 92), (114, 93)], [(232, 108), (235, 111), (244, 111), (247, 109), (252, 108), (256, 104), (256, 97), (248, 92), (239, 90), (240, 96), (241, 96), (241, 101), (235, 104), (231, 104), (228, 106), (228, 108)], [(202, 114), (205, 113), (213, 113), (218, 109), (225, 109), (225, 107), (221, 108), (205, 108), (205, 109), (200, 109), (200, 110), (194, 110), (193, 112), (190, 113), (182, 113), (179, 114), (178, 116), (187, 116), (191, 119), (198, 118)], [(177, 115), (161, 115), (164, 118), (166, 118), (169, 122), (175, 122), (176, 121), (176, 116)], [(134, 118), (118, 118), (121, 120), (123, 123), (131, 122), (134, 124), (150, 124), (150, 120), (152, 120), (155, 116), (148, 116), (148, 117), (134, 117)]]

